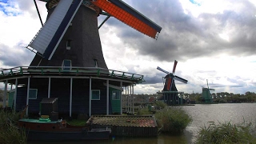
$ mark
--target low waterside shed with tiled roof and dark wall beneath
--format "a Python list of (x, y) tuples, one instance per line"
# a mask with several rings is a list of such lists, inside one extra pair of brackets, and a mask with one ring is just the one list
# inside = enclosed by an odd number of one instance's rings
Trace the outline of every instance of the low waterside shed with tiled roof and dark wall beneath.
[(92, 128), (111, 127), (111, 135), (121, 137), (155, 137), (158, 125), (154, 115), (93, 115), (86, 124)]

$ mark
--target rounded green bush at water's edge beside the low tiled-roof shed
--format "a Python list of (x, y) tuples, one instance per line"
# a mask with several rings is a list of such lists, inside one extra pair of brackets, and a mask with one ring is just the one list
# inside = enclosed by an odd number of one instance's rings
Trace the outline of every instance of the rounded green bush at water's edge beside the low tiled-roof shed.
[(185, 110), (178, 107), (166, 107), (155, 114), (158, 126), (161, 127), (162, 132), (178, 134), (186, 129), (186, 126), (192, 122), (189, 114)]

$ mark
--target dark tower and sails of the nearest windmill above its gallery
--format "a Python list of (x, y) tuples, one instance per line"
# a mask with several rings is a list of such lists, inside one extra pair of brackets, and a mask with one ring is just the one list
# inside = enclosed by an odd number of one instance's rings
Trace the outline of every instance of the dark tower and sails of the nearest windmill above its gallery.
[[(36, 53), (30, 66), (98, 66), (107, 69), (98, 29), (111, 16), (151, 38), (157, 39), (162, 30), (120, 0), (40, 1), (47, 2), (48, 17), (26, 47)], [(107, 16), (100, 26), (99, 14)]]

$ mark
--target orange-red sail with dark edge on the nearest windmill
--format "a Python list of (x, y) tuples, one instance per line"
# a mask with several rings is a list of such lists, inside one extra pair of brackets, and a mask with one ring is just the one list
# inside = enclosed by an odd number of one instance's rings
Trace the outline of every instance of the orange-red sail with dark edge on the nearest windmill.
[(151, 38), (157, 39), (158, 33), (162, 30), (162, 27), (151, 22), (144, 15), (138, 13), (137, 10), (134, 10), (120, 0), (97, 0), (92, 1), (92, 3), (114, 16), (114, 18), (117, 18), (119, 21), (126, 23), (126, 25), (133, 27), (135, 30)]

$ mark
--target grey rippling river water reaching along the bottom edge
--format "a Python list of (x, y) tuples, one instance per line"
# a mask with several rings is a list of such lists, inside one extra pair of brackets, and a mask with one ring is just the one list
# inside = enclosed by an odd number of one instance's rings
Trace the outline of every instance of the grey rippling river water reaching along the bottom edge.
[(209, 122), (255, 122), (256, 103), (225, 103), (225, 104), (196, 104), (195, 106), (180, 106), (193, 118), (193, 122), (186, 127), (182, 135), (171, 136), (160, 134), (157, 138), (110, 138), (104, 141), (81, 142), (28, 142), (28, 144), (185, 144), (194, 143), (198, 130), (202, 126), (209, 126)]

